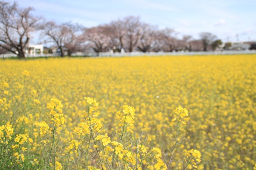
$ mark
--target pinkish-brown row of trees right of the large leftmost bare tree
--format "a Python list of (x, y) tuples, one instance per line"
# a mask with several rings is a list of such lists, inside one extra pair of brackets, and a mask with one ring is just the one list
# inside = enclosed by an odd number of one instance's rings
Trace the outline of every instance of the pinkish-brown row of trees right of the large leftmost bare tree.
[(156, 26), (140, 21), (139, 17), (128, 16), (122, 20), (114, 20), (108, 24), (92, 28), (84, 28), (78, 24), (46, 22), (40, 28), (45, 41), (53, 41), (63, 56), (63, 49), (68, 55), (88, 48), (94, 52), (142, 52), (215, 50), (222, 42), (211, 33), (200, 33), (201, 40), (193, 40), (192, 36), (177, 38), (177, 32), (166, 28), (159, 30)]

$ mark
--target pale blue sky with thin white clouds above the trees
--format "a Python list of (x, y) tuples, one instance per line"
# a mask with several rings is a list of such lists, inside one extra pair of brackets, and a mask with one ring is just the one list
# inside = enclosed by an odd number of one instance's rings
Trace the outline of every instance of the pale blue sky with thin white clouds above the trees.
[[(7, 0), (14, 2), (14, 0)], [(222, 41), (256, 41), (256, 0), (16, 0), (32, 6), (34, 14), (58, 23), (74, 22), (86, 27), (105, 24), (125, 16), (140, 16), (159, 28), (173, 28), (198, 38), (211, 32)]]

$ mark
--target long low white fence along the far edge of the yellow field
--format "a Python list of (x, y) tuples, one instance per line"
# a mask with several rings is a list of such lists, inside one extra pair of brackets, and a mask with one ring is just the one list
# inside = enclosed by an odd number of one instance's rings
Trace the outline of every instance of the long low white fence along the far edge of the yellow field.
[[(256, 54), (256, 50), (250, 51), (178, 51), (178, 52), (132, 52), (132, 53), (79, 53), (72, 56), (90, 56), (90, 57), (124, 57), (124, 56), (161, 56), (161, 55), (232, 55), (232, 54)], [(15, 54), (0, 54), (0, 58), (16, 57)], [(58, 54), (26, 54), (25, 57), (57, 57)]]

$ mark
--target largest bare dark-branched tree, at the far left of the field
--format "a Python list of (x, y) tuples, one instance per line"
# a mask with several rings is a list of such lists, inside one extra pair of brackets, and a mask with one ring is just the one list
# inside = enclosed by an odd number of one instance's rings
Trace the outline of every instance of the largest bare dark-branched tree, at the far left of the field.
[(30, 33), (36, 30), (40, 18), (32, 16), (33, 9), (0, 1), (0, 47), (24, 58), (24, 50), (30, 40)]

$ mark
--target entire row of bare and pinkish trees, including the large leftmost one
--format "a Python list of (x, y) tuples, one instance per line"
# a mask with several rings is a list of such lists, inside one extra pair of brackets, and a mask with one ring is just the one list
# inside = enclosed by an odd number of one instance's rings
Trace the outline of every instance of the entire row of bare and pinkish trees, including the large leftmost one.
[(85, 28), (78, 24), (57, 24), (46, 22), (32, 16), (32, 8), (20, 8), (16, 3), (0, 1), (0, 51), (7, 50), (25, 57), (24, 49), (28, 45), (32, 32), (40, 31), (43, 43), (52, 42), (58, 47), (60, 55), (64, 49), (71, 55), (76, 51), (93, 49), (94, 52), (132, 52), (149, 51), (207, 51), (215, 50), (221, 40), (211, 33), (200, 33), (201, 40), (193, 40), (186, 35), (178, 38), (173, 29), (158, 29), (157, 26), (144, 23), (139, 17), (128, 16), (108, 24)]

